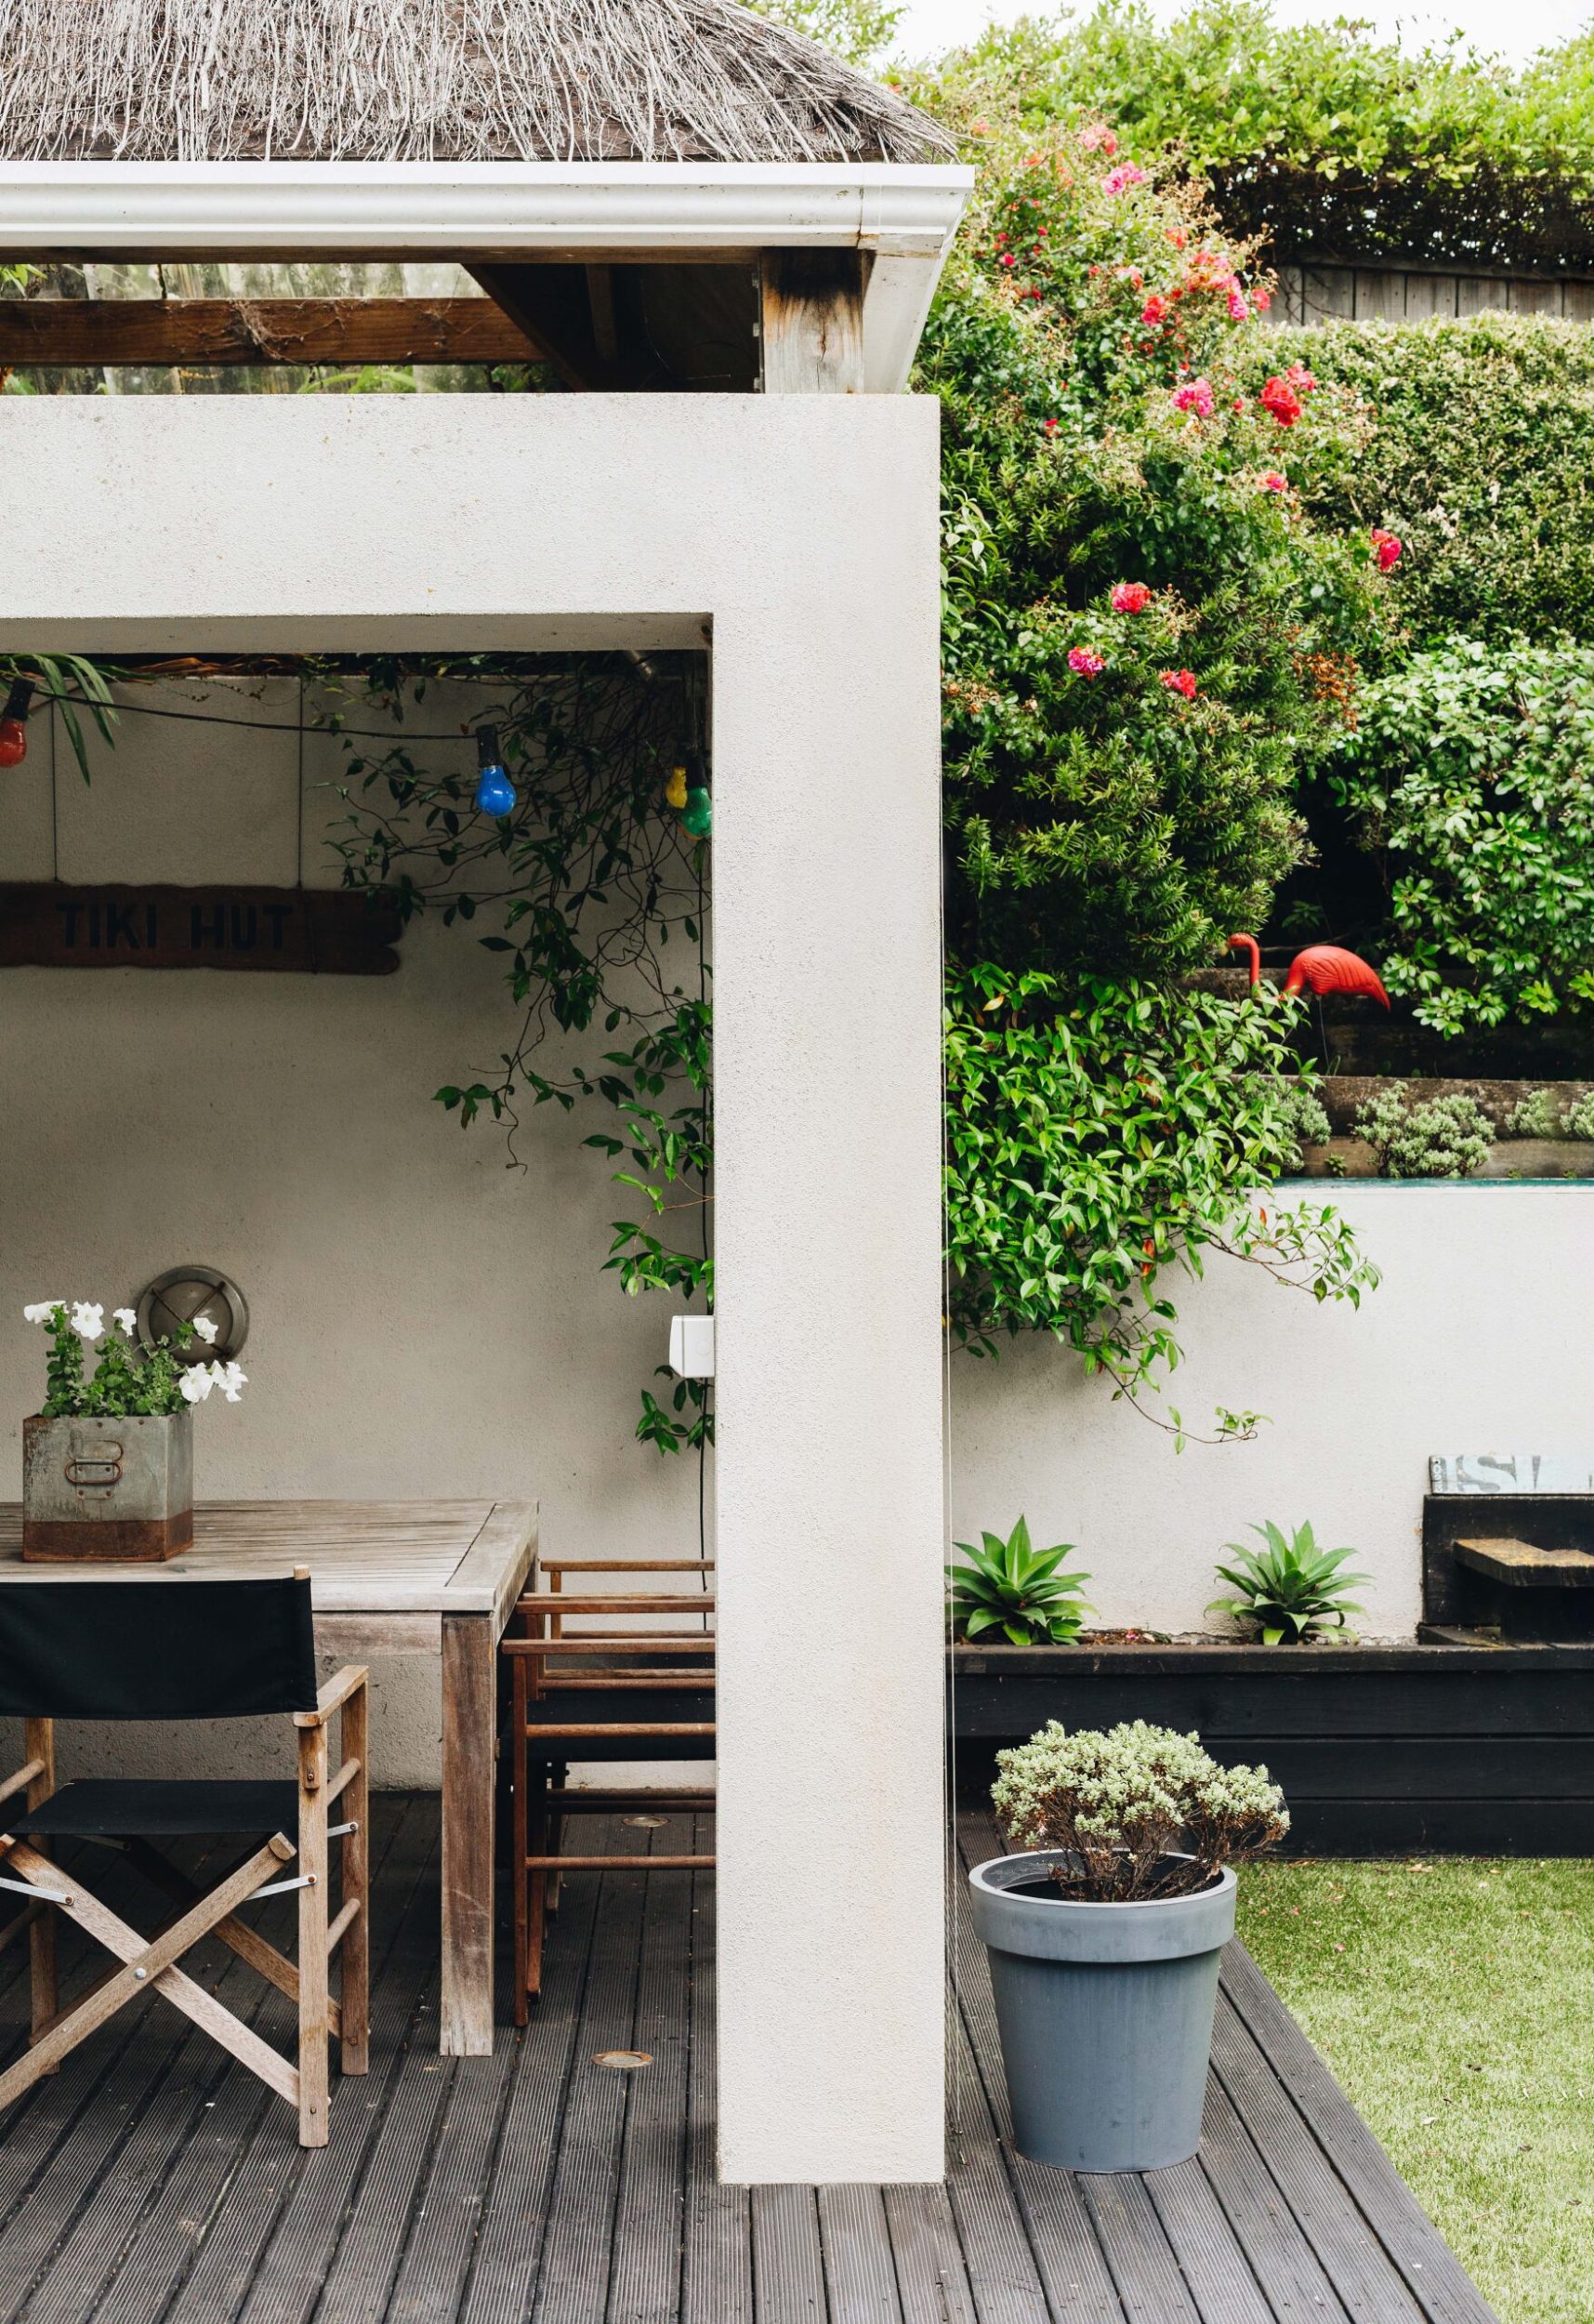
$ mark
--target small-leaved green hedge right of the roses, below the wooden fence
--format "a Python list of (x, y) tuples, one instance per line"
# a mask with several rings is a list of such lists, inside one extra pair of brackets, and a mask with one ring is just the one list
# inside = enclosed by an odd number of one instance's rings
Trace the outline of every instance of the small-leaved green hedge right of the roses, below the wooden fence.
[(1376, 411), (1369, 444), (1301, 474), (1324, 525), (1387, 525), (1413, 648), (1445, 637), (1594, 639), (1594, 330), (1529, 316), (1271, 332)]

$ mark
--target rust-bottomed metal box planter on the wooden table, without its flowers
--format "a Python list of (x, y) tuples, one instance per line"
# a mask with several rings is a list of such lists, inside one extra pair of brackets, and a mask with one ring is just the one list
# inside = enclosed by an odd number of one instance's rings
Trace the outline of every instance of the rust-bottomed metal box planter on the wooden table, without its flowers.
[(193, 1413), (23, 1420), (23, 1557), (151, 1564), (193, 1545)]

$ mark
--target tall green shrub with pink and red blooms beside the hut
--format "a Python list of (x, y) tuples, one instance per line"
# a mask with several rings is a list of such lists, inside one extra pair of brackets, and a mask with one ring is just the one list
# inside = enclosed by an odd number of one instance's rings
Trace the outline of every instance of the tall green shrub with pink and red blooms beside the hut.
[(948, 934), (1159, 976), (1266, 920), (1301, 860), (1292, 797), (1345, 720), (1315, 669), (1373, 625), (1376, 574), (1292, 479), (1366, 418), (1290, 372), (1285, 474), (1245, 372), (1250, 251), (1129, 156), (1104, 170), (1099, 121), (1034, 139), (1018, 102), (941, 107), (983, 123), (985, 160), (920, 363), (943, 402)]

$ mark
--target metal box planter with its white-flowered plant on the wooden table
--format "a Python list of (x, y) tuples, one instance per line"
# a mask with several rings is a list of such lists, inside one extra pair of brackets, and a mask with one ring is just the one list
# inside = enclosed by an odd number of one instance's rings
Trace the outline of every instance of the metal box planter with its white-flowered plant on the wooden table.
[[(204, 1362), (216, 1325), (139, 1346), (137, 1315), (88, 1299), (23, 1308), (49, 1334), (44, 1406), (23, 1420), (23, 1557), (151, 1564), (193, 1543), (193, 1406), (237, 1404), (244, 1371)], [(93, 1373), (86, 1353), (98, 1348)]]

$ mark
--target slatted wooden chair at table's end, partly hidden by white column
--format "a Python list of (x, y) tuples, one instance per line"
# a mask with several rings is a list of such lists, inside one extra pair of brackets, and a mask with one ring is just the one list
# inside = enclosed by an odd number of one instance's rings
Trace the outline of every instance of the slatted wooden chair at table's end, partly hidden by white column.
[[(706, 1785), (672, 1787), (667, 1792), (637, 1792), (588, 1787), (569, 1789), (565, 1766), (558, 1780), (544, 1778), (532, 1796), (530, 1743), (574, 1743), (579, 1757), (583, 1738), (637, 1736), (641, 1757), (669, 1757), (669, 1741), (678, 1736), (711, 1736), (713, 1720), (620, 1720), (604, 1717), (602, 1697), (623, 1694), (637, 1687), (655, 1692), (697, 1692), (713, 1687), (716, 1638), (711, 1631), (692, 1634), (678, 1629), (579, 1629), (567, 1631), (565, 1618), (604, 1618), (604, 1622), (660, 1620), (662, 1615), (711, 1615), (713, 1594), (699, 1592), (604, 1592), (581, 1597), (565, 1590), (567, 1573), (713, 1573), (709, 1557), (546, 1557), (532, 1571), (532, 1587), (516, 1601), (511, 1620), (520, 1624), (518, 1636), (502, 1641), (509, 1659), (509, 1748), (511, 1748), (511, 1882), (514, 1882), (514, 1982), (516, 2024), (530, 2017), (530, 2001), (541, 1992), (541, 1954), (548, 1913), (558, 1913), (560, 1878), (567, 1871), (688, 1871), (713, 1868), (713, 1855), (620, 1855), (586, 1857), (565, 1848), (565, 1827), (572, 1815), (613, 1815), (623, 1808), (658, 1808), (665, 1815), (713, 1813), (713, 1789)], [(546, 1578), (546, 1590), (537, 1580)], [(681, 1662), (658, 1662), (672, 1657), (709, 1657), (709, 1671), (683, 1669)], [(597, 1657), (597, 1659), (595, 1659)], [(630, 1657), (641, 1657), (632, 1662)], [(648, 1662), (653, 1657), (653, 1662)], [(553, 1669), (551, 1669), (553, 1666)], [(537, 1724), (527, 1717), (532, 1701), (558, 1694), (595, 1694), (590, 1720), (560, 1720)], [(648, 1750), (653, 1745), (653, 1750)]]

